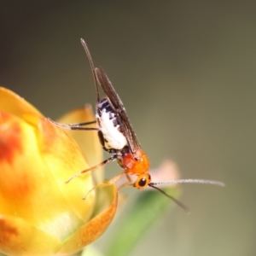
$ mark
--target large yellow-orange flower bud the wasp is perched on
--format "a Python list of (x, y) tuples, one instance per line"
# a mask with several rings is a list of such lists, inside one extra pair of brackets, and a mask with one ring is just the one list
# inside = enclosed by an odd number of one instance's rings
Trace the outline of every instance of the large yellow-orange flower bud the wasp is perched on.
[[(90, 108), (64, 119), (78, 115), (85, 116), (83, 122), (93, 119)], [(100, 155), (93, 143), (96, 135), (79, 133), (85, 137), (85, 154), (95, 163)], [(94, 186), (90, 172), (66, 183), (88, 167), (84, 152), (67, 132), (0, 87), (0, 252), (69, 255), (101, 236), (116, 210), (116, 187), (93, 190), (83, 201)]]

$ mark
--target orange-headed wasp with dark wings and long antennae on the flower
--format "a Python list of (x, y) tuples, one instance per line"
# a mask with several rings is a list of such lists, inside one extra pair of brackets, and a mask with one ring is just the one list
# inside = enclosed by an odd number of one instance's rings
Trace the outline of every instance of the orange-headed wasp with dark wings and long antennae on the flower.
[[(123, 102), (119, 98), (117, 92), (114, 90), (113, 84), (108, 79), (108, 76), (102, 67), (95, 67), (90, 55), (89, 48), (84, 39), (81, 39), (81, 44), (83, 45), (85, 53), (89, 59), (90, 68), (96, 87), (96, 120), (73, 125), (62, 125), (56, 123), (52, 119), (49, 120), (62, 128), (82, 131), (97, 131), (99, 141), (102, 144), (102, 148), (111, 154), (111, 156), (96, 166), (92, 166), (84, 171), (76, 173), (73, 177), (70, 177), (67, 180), (67, 183), (69, 183), (74, 177), (78, 177), (84, 172), (90, 172), (105, 166), (110, 161), (117, 160), (123, 171), (120, 172), (117, 176), (111, 178), (108, 183), (97, 184), (93, 189), (96, 189), (96, 187), (99, 186), (107, 186), (108, 184), (115, 183), (121, 176), (125, 175), (128, 180), (125, 185), (131, 185), (137, 189), (144, 189), (147, 187), (157, 189), (175, 201), (180, 207), (183, 207), (185, 211), (188, 211), (187, 207), (183, 206), (183, 204), (173, 198), (172, 195), (166, 194), (166, 192), (160, 189), (158, 186), (171, 183), (210, 183), (224, 186), (224, 183), (222, 182), (203, 179), (179, 179), (153, 183), (151, 181), (150, 174), (148, 173), (150, 166), (148, 156), (144, 153), (140, 146), (136, 133), (131, 125), (131, 121), (126, 113)], [(105, 93), (105, 96), (102, 98), (100, 96), (100, 87)], [(92, 123), (96, 123), (97, 127), (84, 127)], [(136, 176), (134, 183), (131, 181), (132, 176)], [(93, 189), (90, 189), (90, 191)]]

